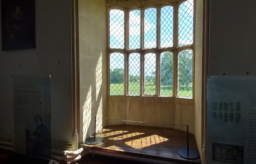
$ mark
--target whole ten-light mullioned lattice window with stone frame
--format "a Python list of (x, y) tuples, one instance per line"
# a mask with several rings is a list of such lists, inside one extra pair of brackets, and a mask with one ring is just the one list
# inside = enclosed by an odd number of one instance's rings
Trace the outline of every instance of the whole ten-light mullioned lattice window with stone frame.
[(110, 8), (108, 16), (110, 95), (192, 98), (193, 0)]

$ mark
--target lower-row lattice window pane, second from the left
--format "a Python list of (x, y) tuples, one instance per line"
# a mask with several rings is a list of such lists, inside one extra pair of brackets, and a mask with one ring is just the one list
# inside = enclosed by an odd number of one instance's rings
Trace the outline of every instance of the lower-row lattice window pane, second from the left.
[(141, 91), (141, 54), (129, 55), (129, 94), (139, 96)]

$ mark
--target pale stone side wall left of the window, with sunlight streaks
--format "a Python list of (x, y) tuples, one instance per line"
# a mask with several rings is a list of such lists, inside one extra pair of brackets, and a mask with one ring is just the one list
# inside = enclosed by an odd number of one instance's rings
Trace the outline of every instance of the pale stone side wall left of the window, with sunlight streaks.
[[(80, 0), (80, 142), (94, 133), (94, 117), (107, 112), (107, 12), (105, 0)], [(104, 126), (97, 121), (97, 130)]]

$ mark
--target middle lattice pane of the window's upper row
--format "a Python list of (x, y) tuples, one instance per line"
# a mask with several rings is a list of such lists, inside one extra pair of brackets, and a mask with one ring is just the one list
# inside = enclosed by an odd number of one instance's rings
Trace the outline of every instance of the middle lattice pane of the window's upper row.
[(157, 9), (148, 8), (144, 11), (144, 48), (157, 47)]

